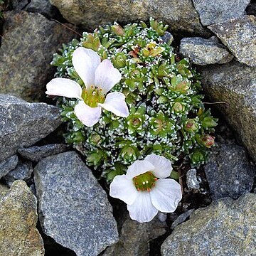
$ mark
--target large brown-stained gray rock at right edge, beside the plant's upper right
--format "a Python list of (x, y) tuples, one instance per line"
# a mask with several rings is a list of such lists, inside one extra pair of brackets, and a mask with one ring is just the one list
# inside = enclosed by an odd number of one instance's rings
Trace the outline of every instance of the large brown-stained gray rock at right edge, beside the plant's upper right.
[(256, 68), (231, 61), (199, 70), (207, 97), (223, 113), (256, 161)]

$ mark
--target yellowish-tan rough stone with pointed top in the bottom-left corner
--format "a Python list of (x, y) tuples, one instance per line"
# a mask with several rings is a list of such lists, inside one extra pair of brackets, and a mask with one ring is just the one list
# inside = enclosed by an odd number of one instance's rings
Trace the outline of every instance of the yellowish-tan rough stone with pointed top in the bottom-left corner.
[(36, 198), (26, 183), (14, 181), (0, 197), (0, 255), (44, 255), (36, 210)]

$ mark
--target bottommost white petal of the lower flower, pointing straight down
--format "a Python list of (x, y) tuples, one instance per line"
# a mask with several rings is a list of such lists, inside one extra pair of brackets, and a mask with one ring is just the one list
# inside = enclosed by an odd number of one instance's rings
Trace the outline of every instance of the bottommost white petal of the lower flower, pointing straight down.
[(132, 220), (139, 223), (149, 222), (158, 213), (158, 210), (151, 203), (149, 192), (139, 192), (132, 205), (127, 205)]

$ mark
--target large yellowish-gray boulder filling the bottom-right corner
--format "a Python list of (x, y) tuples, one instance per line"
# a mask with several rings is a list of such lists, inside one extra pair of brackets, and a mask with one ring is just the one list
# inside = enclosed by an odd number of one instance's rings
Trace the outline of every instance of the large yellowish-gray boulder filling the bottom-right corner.
[(161, 245), (162, 256), (255, 255), (256, 195), (223, 198), (194, 211)]

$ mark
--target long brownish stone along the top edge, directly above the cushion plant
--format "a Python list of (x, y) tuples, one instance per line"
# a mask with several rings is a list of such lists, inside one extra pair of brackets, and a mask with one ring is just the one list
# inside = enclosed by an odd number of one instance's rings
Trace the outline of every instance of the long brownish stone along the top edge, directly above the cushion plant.
[(75, 25), (82, 25), (86, 30), (93, 30), (99, 25), (118, 21), (149, 21), (154, 17), (169, 24), (172, 32), (208, 34), (201, 26), (198, 13), (192, 0), (50, 0), (65, 19)]

